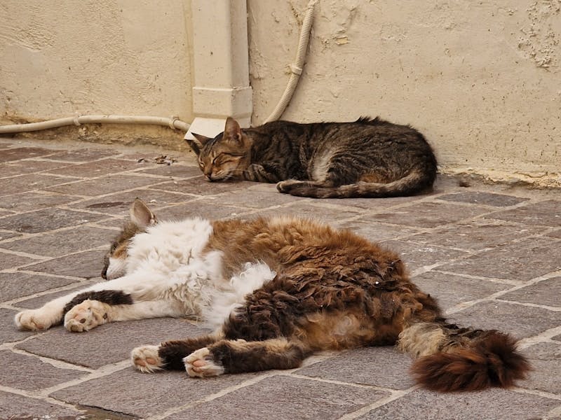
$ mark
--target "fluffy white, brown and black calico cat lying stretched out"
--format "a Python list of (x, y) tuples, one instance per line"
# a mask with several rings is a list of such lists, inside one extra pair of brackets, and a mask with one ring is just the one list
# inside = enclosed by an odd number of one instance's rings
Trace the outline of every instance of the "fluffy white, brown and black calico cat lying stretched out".
[(527, 360), (513, 337), (447, 323), (398, 255), (346, 230), (290, 217), (158, 221), (136, 200), (111, 246), (109, 281), (20, 312), (22, 329), (71, 331), (185, 316), (215, 332), (133, 349), (142, 372), (191, 377), (298, 367), (316, 351), (397, 344), (436, 391), (511, 386)]

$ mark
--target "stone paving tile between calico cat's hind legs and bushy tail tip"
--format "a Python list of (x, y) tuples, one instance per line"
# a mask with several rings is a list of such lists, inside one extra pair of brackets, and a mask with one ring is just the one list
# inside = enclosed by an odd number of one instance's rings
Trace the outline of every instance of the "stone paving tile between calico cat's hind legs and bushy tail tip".
[(351, 384), (407, 389), (414, 385), (409, 373), (411, 362), (409, 356), (392, 346), (374, 346), (344, 351), (295, 373)]

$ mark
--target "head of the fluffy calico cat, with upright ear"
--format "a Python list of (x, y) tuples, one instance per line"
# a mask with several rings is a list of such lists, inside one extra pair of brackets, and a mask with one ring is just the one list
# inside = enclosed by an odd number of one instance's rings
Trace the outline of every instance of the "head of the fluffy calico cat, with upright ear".
[(145, 232), (149, 226), (157, 222), (156, 215), (140, 198), (137, 198), (130, 206), (130, 221), (125, 224), (104, 256), (101, 272), (104, 279), (116, 279), (126, 274), (127, 249), (130, 240), (138, 233)]

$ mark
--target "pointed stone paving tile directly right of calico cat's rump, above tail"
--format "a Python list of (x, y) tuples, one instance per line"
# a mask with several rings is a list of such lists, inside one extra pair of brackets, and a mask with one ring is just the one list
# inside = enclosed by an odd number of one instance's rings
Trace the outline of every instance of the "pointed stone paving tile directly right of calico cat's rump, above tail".
[(442, 309), (450, 309), (461, 302), (482, 299), (500, 290), (512, 288), (509, 284), (434, 271), (414, 276), (413, 282), (425, 293), (435, 297)]

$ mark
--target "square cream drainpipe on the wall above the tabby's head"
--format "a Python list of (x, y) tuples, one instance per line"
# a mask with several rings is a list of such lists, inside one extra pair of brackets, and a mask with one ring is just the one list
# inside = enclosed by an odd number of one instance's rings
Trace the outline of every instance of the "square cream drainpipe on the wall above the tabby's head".
[(249, 127), (253, 108), (249, 80), (245, 0), (191, 0), (194, 50), (193, 112), (186, 139), (214, 137), (227, 117)]

